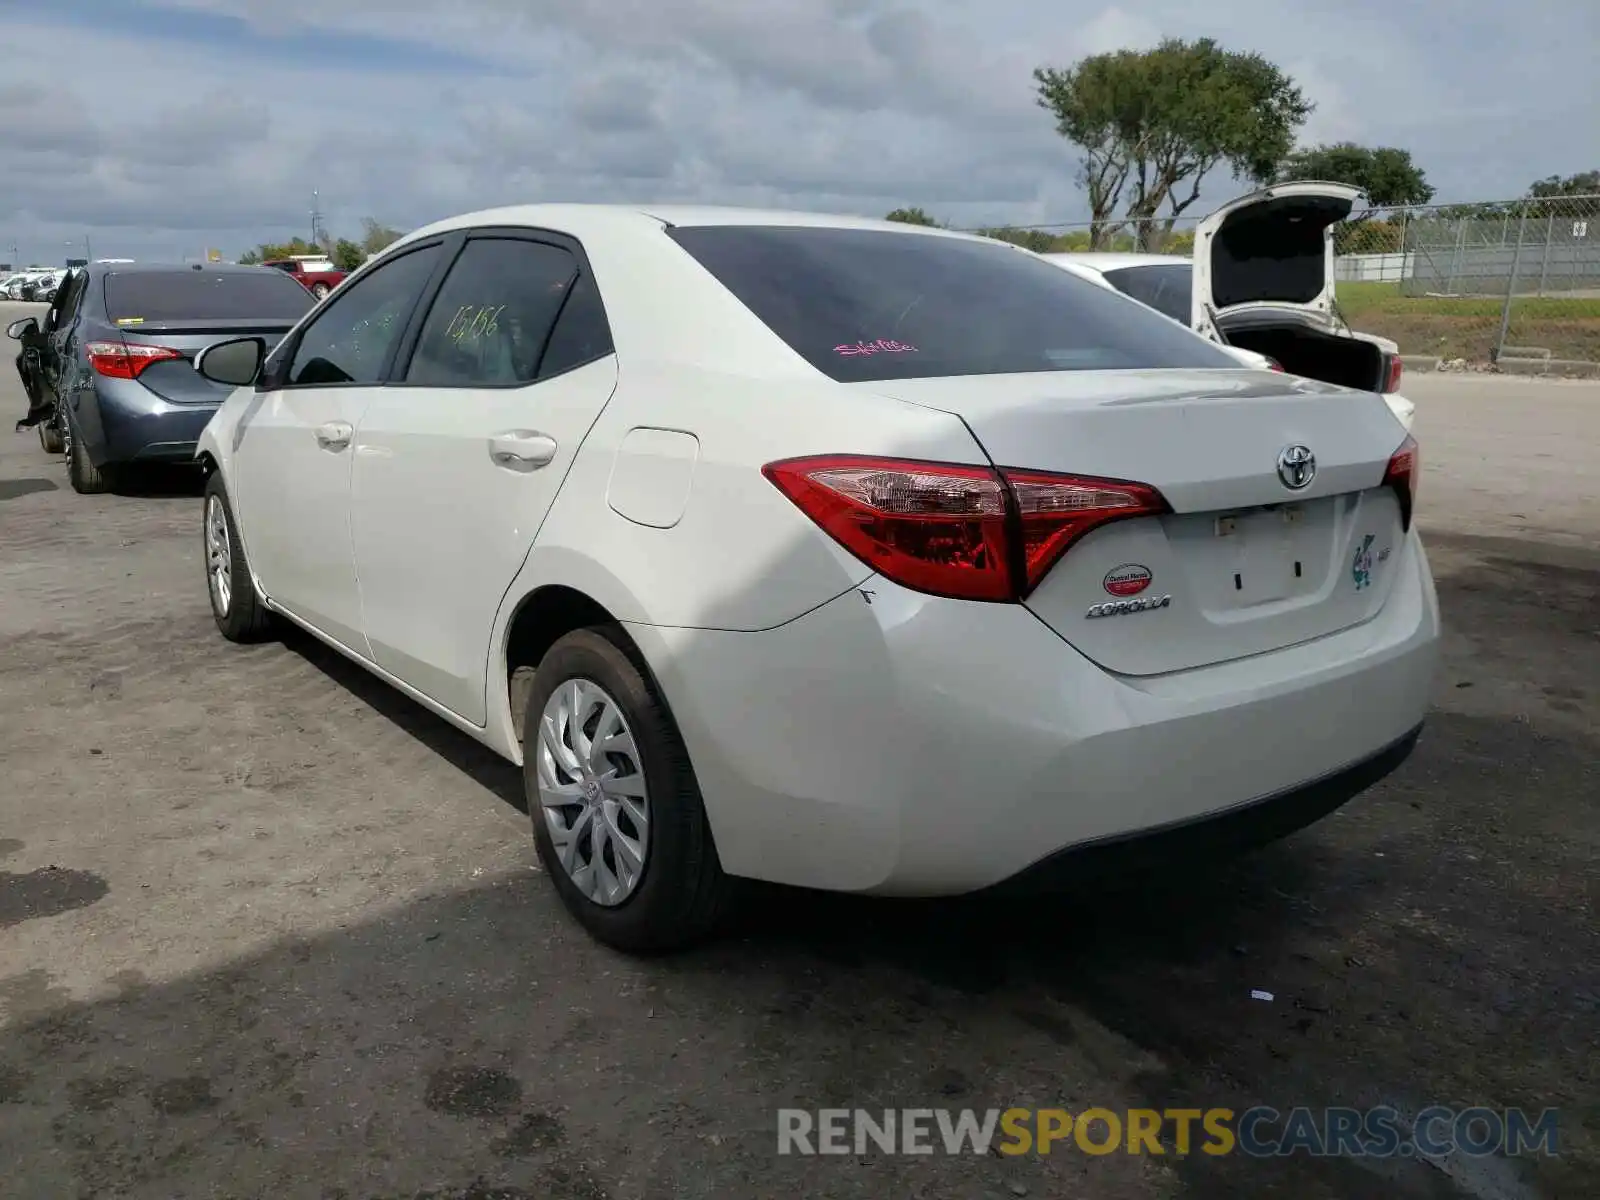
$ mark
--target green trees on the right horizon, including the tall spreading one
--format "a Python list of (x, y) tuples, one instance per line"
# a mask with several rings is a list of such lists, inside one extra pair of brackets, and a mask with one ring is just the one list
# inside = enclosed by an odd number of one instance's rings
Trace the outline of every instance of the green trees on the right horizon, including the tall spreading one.
[[(1029, 250), (1181, 253), (1192, 235), (1174, 232), (1174, 226), (1218, 168), (1253, 186), (1323, 179), (1360, 187), (1371, 208), (1354, 214), (1341, 237), (1373, 250), (1387, 240), (1400, 248), (1398, 224), (1379, 219), (1378, 210), (1434, 198), (1410, 150), (1355, 142), (1296, 146), (1317, 106), (1277, 64), (1226, 50), (1213, 38), (1166, 38), (1154, 50), (1117, 50), (1070, 67), (1038, 67), (1034, 85), (1056, 133), (1077, 150), (1074, 181), (1088, 198), (1090, 222), (1069, 234), (1011, 226), (979, 230)], [(1520, 202), (1456, 205), (1430, 216), (1600, 216), (1600, 171), (1539, 179)], [(922, 208), (896, 208), (888, 219), (947, 224)]]

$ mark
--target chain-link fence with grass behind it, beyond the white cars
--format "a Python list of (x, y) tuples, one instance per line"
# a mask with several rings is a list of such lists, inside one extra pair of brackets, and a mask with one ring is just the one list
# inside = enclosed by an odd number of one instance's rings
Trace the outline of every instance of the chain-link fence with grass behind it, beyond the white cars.
[[(1194, 219), (1005, 226), (1051, 251), (1190, 254)], [(1334, 229), (1338, 306), (1418, 366), (1600, 374), (1600, 195), (1355, 213)]]

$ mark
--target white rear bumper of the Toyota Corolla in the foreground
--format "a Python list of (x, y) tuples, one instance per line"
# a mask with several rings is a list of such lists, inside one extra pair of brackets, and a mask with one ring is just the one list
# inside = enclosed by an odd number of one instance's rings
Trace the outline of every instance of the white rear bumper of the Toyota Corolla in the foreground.
[(882, 579), (870, 602), (851, 590), (760, 634), (634, 632), (725, 869), (958, 894), (1030, 869), (1059, 878), (1064, 851), (1133, 835), (1238, 832), (1250, 805), (1258, 837), (1282, 835), (1398, 765), (1438, 654), (1414, 533), (1400, 558), (1384, 610), (1355, 629), (1150, 678), (1101, 670), (1021, 605)]

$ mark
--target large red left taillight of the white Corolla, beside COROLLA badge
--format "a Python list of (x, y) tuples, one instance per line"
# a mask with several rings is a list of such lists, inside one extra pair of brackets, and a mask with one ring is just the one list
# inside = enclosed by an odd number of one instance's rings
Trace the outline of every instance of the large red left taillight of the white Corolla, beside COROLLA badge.
[(885, 578), (958, 600), (1021, 600), (1090, 530), (1168, 512), (1144, 483), (1008, 467), (824, 454), (762, 474)]

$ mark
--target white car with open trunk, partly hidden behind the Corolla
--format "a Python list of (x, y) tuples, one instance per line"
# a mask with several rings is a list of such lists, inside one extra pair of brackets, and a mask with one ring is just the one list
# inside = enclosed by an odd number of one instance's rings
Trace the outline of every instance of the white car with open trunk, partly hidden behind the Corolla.
[[(1325, 182), (1251, 192), (1200, 222), (1194, 258), (1104, 251), (1045, 258), (1099, 275), (1240, 357), (1381, 392), (1410, 429), (1416, 405), (1398, 394), (1400, 347), (1346, 328), (1334, 302), (1333, 227), (1349, 218), (1360, 195), (1347, 184)], [(1270, 253), (1261, 253), (1262, 246)]]

